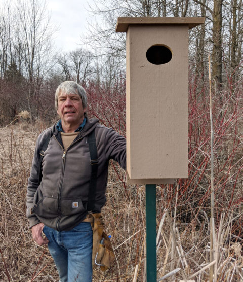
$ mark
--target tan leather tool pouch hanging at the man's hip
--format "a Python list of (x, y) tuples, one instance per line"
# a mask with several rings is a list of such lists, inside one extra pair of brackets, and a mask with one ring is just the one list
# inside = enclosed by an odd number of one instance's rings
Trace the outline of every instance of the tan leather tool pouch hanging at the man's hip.
[(105, 271), (112, 265), (115, 254), (110, 238), (104, 232), (103, 217), (100, 213), (92, 214), (92, 216), (94, 218), (94, 222), (91, 223), (93, 228), (93, 269), (98, 265), (102, 271)]

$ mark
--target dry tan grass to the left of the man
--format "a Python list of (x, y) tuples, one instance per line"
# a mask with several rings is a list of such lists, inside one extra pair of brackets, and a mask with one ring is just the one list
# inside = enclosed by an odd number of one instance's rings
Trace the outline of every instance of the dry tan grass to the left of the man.
[(27, 179), (41, 129), (19, 123), (0, 131), (1, 281), (31, 281), (46, 265), (39, 279), (58, 277), (48, 251), (33, 243), (25, 216)]

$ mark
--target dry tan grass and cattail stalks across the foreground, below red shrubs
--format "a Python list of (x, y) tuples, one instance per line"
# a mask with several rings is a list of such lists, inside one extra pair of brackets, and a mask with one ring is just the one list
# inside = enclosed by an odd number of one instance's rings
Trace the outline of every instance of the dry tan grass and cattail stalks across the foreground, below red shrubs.
[[(37, 246), (32, 241), (25, 218), (27, 178), (35, 140), (39, 133), (37, 131), (41, 131), (40, 129), (27, 126), (23, 128), (21, 124), (17, 124), (0, 131), (1, 281), (56, 281), (58, 279), (47, 248)], [(108, 200), (103, 212), (107, 233), (112, 236), (116, 250), (116, 262), (108, 273), (103, 274), (96, 269), (94, 281), (133, 281), (136, 265), (137, 281), (145, 281), (144, 187), (133, 186), (124, 190), (112, 170), (109, 179)], [(174, 202), (173, 209), (164, 208), (168, 206), (167, 193), (165, 193), (167, 189), (168, 187), (157, 187), (158, 278), (180, 268), (174, 275), (165, 278), (165, 281), (179, 281), (179, 279), (207, 281), (210, 250), (208, 215), (200, 210), (197, 215), (192, 215), (191, 223), (183, 223), (178, 213), (181, 208), (178, 202)], [(238, 218), (241, 216), (237, 215)], [(215, 260), (217, 260), (218, 281), (243, 279), (241, 240), (230, 242), (235, 220), (237, 218), (233, 218), (233, 213), (228, 213), (227, 216), (222, 214), (220, 226), (217, 228)]]

